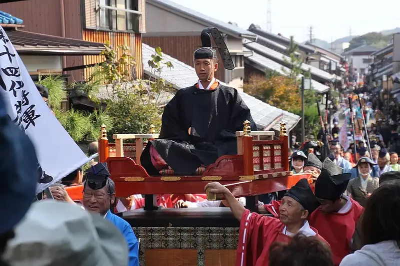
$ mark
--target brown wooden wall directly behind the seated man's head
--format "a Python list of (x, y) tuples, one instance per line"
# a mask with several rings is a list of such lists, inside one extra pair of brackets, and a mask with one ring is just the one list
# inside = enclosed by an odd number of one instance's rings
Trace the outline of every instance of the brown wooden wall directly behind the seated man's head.
[[(193, 52), (201, 46), (200, 37), (196, 36), (143, 36), (142, 41), (151, 47), (161, 47), (162, 52), (165, 54), (189, 65), (193, 66)], [(214, 44), (213, 44), (214, 45)], [(197, 47), (196, 47), (197, 46)], [(221, 58), (218, 54), (220, 68), (215, 73), (215, 78), (223, 81), (225, 72)]]

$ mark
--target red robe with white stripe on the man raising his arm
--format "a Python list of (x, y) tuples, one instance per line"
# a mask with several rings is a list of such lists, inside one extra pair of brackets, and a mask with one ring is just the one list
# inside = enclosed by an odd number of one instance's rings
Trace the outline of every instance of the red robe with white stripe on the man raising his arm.
[[(282, 233), (283, 229), (284, 225), (278, 219), (245, 210), (240, 220), (236, 266), (268, 266), (272, 243), (290, 241), (290, 237)], [(326, 243), (314, 228), (311, 229), (316, 233), (315, 237)]]

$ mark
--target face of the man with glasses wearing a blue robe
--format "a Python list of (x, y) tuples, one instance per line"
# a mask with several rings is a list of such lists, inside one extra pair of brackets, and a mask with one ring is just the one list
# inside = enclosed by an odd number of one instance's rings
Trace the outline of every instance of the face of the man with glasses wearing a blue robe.
[(90, 212), (104, 215), (110, 208), (110, 197), (111, 203), (113, 203), (115, 194), (109, 194), (108, 184), (102, 189), (97, 190), (85, 186), (83, 191), (83, 207)]

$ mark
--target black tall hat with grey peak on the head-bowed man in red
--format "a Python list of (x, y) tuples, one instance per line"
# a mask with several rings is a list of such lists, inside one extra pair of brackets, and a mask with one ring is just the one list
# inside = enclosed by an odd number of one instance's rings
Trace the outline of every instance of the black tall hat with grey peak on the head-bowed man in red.
[(315, 197), (332, 201), (339, 199), (346, 190), (350, 177), (350, 173), (343, 173), (342, 168), (326, 158), (315, 182)]

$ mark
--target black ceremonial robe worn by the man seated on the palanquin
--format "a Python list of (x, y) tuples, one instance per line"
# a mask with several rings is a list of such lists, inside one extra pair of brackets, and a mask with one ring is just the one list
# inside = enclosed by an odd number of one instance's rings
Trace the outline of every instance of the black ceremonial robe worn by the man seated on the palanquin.
[(251, 130), (257, 130), (250, 110), (234, 88), (218, 85), (204, 90), (193, 85), (178, 90), (164, 108), (159, 138), (149, 141), (143, 150), (141, 165), (149, 175), (159, 175), (151, 164), (152, 145), (175, 174), (194, 174), (200, 165), (237, 154), (235, 132), (243, 131), (245, 120), (250, 121)]

